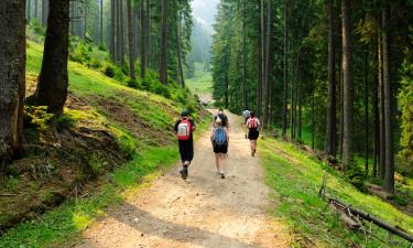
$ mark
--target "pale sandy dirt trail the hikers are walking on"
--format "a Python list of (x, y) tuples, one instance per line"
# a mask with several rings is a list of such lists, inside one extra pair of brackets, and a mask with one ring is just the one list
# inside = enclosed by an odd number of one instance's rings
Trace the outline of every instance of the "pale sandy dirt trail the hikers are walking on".
[(210, 133), (205, 133), (187, 181), (178, 166), (170, 170), (86, 230), (78, 247), (289, 247), (285, 227), (265, 215), (269, 188), (260, 157), (250, 157), (241, 119), (229, 114), (229, 122), (225, 180), (215, 173)]

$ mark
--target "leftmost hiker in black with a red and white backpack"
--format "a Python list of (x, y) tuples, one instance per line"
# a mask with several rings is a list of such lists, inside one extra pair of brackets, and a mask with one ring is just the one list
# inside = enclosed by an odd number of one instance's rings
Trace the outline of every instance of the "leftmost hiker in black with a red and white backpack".
[(194, 137), (195, 122), (189, 118), (189, 112), (184, 110), (181, 119), (176, 121), (174, 130), (180, 145), (180, 154), (182, 160), (182, 170), (180, 171), (182, 179), (188, 176), (188, 166), (194, 159)]

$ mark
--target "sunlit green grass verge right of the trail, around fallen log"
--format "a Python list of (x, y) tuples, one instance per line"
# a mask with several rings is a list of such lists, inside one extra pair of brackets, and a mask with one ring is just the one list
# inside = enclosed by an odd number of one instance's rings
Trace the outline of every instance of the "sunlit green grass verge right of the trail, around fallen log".
[[(377, 239), (366, 241), (361, 233), (347, 229), (334, 211), (324, 211), (326, 202), (317, 196), (324, 173), (328, 175), (328, 194), (413, 231), (412, 216), (377, 196), (359, 192), (338, 172), (296, 150), (293, 144), (265, 139), (260, 142), (260, 149), (267, 171), (265, 181), (273, 188), (272, 197), (278, 202), (271, 213), (284, 218), (294, 234), (306, 237), (304, 240), (314, 240), (317, 247), (352, 247), (352, 242), (362, 247), (391, 247)], [(387, 233), (373, 230), (387, 239)], [(304, 246), (300, 241), (294, 245)], [(406, 242), (404, 245), (407, 246)]]

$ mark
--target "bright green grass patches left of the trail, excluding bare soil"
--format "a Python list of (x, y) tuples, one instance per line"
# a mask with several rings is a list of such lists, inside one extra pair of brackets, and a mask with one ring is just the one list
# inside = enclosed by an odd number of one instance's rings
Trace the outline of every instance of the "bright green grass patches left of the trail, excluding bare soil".
[[(26, 72), (35, 78), (41, 68), (43, 47), (41, 44), (28, 42)], [(80, 111), (65, 109), (65, 115), (58, 120), (63, 125), (75, 127), (78, 121), (93, 120), (104, 129), (108, 128), (115, 136), (120, 149), (129, 154), (131, 160), (108, 173), (107, 182), (90, 192), (86, 198), (68, 200), (53, 211), (40, 216), (40, 219), (28, 220), (8, 230), (0, 238), (0, 247), (65, 247), (80, 238), (80, 233), (94, 220), (102, 216), (108, 207), (116, 207), (128, 196), (135, 192), (145, 182), (157, 177), (160, 173), (178, 159), (175, 145), (148, 145), (137, 139), (130, 130), (105, 116), (100, 110), (99, 98), (110, 99), (124, 105), (130, 111), (141, 117), (150, 126), (165, 130), (173, 126), (183, 104), (146, 91), (139, 91), (124, 86), (124, 83), (105, 76), (99, 71), (94, 71), (85, 65), (69, 62), (69, 91), (83, 97), (90, 110)], [(195, 116), (197, 114), (195, 112)], [(200, 120), (197, 133), (207, 130), (209, 118)], [(165, 137), (165, 139), (174, 139)], [(96, 170), (100, 170), (99, 158)], [(10, 177), (6, 186), (12, 190), (17, 180)], [(47, 195), (44, 195), (47, 197)], [(1, 216), (0, 216), (1, 217)]]

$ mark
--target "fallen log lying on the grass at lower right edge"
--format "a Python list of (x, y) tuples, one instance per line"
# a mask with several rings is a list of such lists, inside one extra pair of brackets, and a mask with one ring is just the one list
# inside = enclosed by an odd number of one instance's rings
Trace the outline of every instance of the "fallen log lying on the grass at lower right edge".
[(388, 230), (389, 233), (391, 233), (393, 235), (396, 235), (401, 238), (404, 238), (405, 240), (407, 240), (410, 242), (413, 242), (413, 236), (407, 234), (407, 231), (403, 230), (402, 228), (400, 228), (398, 226), (392, 226), (389, 223), (387, 223), (384, 220), (381, 220), (381, 219), (370, 215), (367, 212), (358, 209), (358, 208), (356, 208), (351, 205), (347, 205), (347, 204), (345, 204), (345, 203), (343, 203), (343, 202), (340, 202), (336, 198), (328, 198), (328, 202), (330, 202), (333, 204), (337, 204), (339, 206), (346, 206), (346, 209), (348, 209), (352, 215), (355, 215), (357, 217), (360, 217), (360, 218), (363, 218), (367, 222), (371, 222), (371, 223), (376, 224), (377, 226)]

